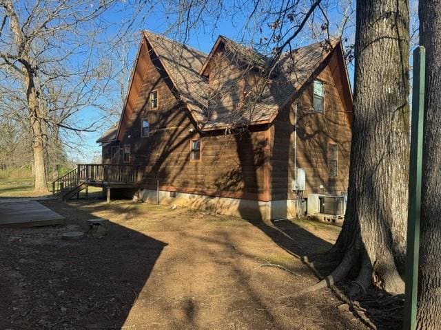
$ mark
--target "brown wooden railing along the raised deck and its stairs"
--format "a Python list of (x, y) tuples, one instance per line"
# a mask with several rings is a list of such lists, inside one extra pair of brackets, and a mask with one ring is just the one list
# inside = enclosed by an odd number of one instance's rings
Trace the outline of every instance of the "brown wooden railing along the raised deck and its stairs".
[(136, 183), (141, 181), (140, 166), (119, 164), (78, 164), (52, 182), (52, 194), (74, 188), (82, 182)]

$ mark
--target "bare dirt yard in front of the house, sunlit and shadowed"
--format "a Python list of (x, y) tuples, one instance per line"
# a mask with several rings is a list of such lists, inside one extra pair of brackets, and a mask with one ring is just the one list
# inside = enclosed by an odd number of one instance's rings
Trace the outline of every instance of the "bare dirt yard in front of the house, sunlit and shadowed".
[[(278, 227), (129, 201), (45, 201), (65, 225), (0, 232), (0, 329), (365, 329), (295, 255), (322, 252), (338, 228)], [(102, 239), (62, 240), (111, 221)], [(267, 267), (282, 265), (294, 274)]]

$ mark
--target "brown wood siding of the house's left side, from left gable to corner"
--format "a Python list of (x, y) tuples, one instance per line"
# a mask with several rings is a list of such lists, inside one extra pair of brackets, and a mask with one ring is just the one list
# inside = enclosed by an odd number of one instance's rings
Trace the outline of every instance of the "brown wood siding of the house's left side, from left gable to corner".
[[(143, 188), (156, 189), (159, 180), (161, 190), (267, 200), (266, 127), (227, 135), (223, 131), (198, 133), (187, 108), (176, 100), (161, 63), (154, 53), (148, 54), (149, 48), (141, 46), (136, 77), (143, 79), (134, 80), (138, 86), (132, 90), (138, 95), (128, 98), (131, 110), (123, 117), (119, 135), (121, 147), (131, 146), (130, 164), (145, 166)], [(147, 102), (152, 90), (158, 91), (156, 109), (150, 109)], [(148, 137), (141, 137), (144, 118), (150, 121)], [(190, 161), (190, 141), (196, 138), (201, 139), (201, 160), (194, 162)]]

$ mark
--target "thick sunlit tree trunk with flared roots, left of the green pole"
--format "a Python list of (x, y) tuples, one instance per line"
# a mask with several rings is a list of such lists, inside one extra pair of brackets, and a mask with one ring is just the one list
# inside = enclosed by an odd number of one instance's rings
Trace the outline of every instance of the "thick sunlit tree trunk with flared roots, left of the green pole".
[(353, 267), (352, 295), (374, 281), (404, 291), (409, 166), (409, 9), (406, 0), (357, 1), (349, 192), (333, 281)]

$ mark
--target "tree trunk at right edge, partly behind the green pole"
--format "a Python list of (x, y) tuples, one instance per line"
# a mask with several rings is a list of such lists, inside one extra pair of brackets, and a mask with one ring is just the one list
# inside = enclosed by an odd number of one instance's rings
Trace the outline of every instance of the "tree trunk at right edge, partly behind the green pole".
[(441, 325), (441, 1), (420, 1), (420, 44), (426, 47), (418, 329)]

